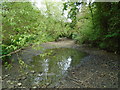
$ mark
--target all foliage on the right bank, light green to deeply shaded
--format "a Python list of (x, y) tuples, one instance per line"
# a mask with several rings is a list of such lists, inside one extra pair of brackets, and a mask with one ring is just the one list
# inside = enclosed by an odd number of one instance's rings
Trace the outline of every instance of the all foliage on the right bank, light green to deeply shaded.
[(73, 39), (108, 51), (120, 51), (119, 2), (96, 2), (87, 6), (82, 3), (81, 12), (74, 13), (75, 15), (71, 12), (75, 12), (76, 9), (73, 8), (78, 5), (74, 3), (73, 7), (69, 4), (68, 2), (64, 4), (64, 10), (71, 7), (68, 16), (75, 17), (77, 20), (77, 22), (72, 22), (76, 31), (73, 33)]

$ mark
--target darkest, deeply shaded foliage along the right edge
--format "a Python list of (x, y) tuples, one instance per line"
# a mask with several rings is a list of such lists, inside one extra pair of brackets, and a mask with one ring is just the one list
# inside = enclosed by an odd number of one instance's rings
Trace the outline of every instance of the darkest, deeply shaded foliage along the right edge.
[[(95, 3), (94, 20), (99, 26), (101, 40), (100, 48), (119, 52), (120, 38), (120, 4), (119, 2)], [(101, 13), (102, 12), (102, 13)], [(99, 24), (99, 25), (98, 25)], [(95, 28), (97, 29), (97, 28)]]

